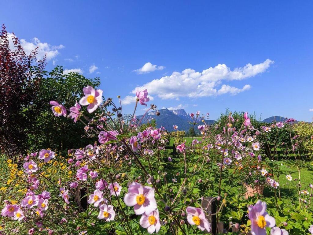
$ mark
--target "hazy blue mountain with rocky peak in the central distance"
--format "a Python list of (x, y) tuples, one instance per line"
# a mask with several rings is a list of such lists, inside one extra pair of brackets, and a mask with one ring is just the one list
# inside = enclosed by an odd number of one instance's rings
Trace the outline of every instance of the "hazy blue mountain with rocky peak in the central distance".
[[(191, 124), (188, 121), (191, 121), (189, 114), (183, 109), (176, 109), (176, 110), (168, 110), (159, 109), (160, 112), (159, 116), (156, 116), (157, 111), (148, 112), (146, 116), (142, 119), (142, 123), (147, 123), (152, 119), (156, 120), (156, 127), (160, 128), (161, 126), (165, 127), (168, 131), (174, 131), (173, 125), (178, 126), (178, 130), (180, 131), (188, 131)], [(142, 118), (143, 115), (138, 116), (139, 120)], [(214, 123), (214, 120), (206, 120), (205, 121), (208, 125)], [(201, 120), (198, 122), (198, 125), (202, 125)], [(195, 131), (197, 131), (197, 127), (195, 127)]]

